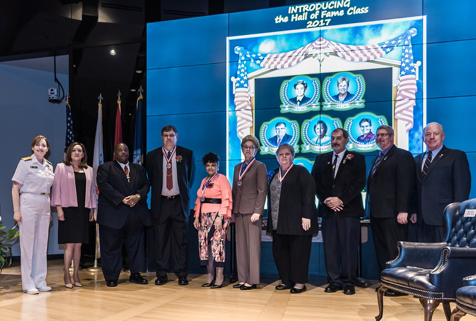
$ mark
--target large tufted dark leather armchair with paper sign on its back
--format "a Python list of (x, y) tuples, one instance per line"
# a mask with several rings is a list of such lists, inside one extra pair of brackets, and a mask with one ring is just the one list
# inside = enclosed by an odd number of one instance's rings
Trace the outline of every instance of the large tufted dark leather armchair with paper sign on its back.
[(387, 262), (380, 273), (377, 321), (382, 319), (387, 289), (419, 297), (425, 321), (431, 321), (436, 307), (443, 303), (446, 320), (450, 320), (449, 302), (456, 301), (461, 279), (476, 274), (476, 217), (464, 216), (466, 209), (475, 208), (476, 198), (446, 206), (445, 239), (441, 243), (397, 243), (397, 258)]

